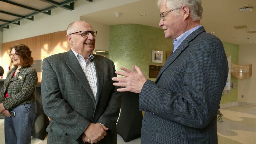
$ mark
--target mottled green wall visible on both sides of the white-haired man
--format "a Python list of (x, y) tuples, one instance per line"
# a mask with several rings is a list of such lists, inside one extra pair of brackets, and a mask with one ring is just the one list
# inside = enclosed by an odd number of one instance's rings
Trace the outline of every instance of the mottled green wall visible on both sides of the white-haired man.
[[(163, 65), (166, 52), (173, 50), (171, 39), (164, 37), (163, 30), (139, 24), (120, 24), (110, 26), (109, 58), (114, 61), (116, 70), (120, 67), (131, 69), (132, 65), (139, 66), (148, 78), (149, 65)], [(239, 46), (223, 42), (227, 57), (238, 65)], [(163, 63), (152, 63), (152, 50), (163, 51)], [(148, 78), (155, 80), (155, 78)], [(238, 79), (231, 75), (231, 83)], [(221, 103), (238, 101), (237, 89), (231, 89), (230, 94), (222, 96)]]

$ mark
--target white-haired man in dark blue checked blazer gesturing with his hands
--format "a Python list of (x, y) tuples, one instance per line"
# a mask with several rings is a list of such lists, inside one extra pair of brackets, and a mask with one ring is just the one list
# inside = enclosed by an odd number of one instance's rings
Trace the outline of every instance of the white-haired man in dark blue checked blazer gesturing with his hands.
[(115, 86), (139, 94), (145, 111), (141, 144), (216, 144), (216, 114), (228, 76), (222, 42), (206, 33), (201, 0), (159, 0), (159, 26), (173, 39), (174, 51), (156, 81), (137, 66), (116, 72)]

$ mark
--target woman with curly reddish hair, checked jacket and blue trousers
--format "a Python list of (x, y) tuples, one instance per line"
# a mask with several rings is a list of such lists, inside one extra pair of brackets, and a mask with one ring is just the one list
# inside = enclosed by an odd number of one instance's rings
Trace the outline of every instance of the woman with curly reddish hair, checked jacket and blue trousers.
[(10, 48), (12, 68), (0, 92), (0, 113), (5, 115), (5, 143), (30, 144), (31, 129), (36, 116), (37, 72), (28, 46)]

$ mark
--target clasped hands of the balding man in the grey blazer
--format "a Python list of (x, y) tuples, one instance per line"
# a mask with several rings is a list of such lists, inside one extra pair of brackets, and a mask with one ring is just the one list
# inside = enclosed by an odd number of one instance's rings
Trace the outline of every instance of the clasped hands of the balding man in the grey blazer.
[(108, 128), (105, 127), (103, 124), (100, 123), (90, 123), (89, 126), (85, 129), (84, 134), (82, 136), (83, 142), (88, 143), (97, 143), (101, 139), (104, 138), (104, 136), (107, 135)]

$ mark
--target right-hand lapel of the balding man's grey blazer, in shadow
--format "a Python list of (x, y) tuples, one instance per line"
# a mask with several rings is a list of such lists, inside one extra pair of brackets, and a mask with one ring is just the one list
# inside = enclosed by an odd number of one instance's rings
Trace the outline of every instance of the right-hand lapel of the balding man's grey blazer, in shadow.
[(94, 59), (94, 66), (96, 70), (96, 75), (97, 75), (97, 95), (96, 95), (96, 105), (99, 101), (99, 97), (101, 94), (102, 86), (104, 83), (104, 62), (100, 61), (100, 57), (97, 55), (93, 55)]

